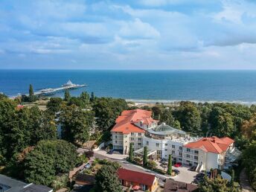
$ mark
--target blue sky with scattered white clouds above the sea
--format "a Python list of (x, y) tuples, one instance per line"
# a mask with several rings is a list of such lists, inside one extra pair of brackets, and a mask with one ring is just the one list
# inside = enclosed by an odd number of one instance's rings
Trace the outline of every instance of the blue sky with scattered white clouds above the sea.
[(256, 69), (255, 0), (1, 0), (0, 68)]

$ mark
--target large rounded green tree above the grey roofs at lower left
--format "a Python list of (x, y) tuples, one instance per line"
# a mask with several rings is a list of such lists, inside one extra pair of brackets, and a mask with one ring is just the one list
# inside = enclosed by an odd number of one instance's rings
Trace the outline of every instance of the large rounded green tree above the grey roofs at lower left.
[(42, 140), (24, 161), (27, 182), (50, 186), (57, 173), (68, 173), (73, 169), (77, 151), (73, 144), (63, 140)]

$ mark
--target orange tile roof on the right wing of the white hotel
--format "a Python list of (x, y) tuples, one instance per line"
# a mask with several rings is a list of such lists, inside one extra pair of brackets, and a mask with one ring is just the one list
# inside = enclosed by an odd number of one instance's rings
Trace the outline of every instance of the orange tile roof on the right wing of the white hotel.
[(201, 149), (205, 152), (211, 153), (223, 153), (223, 151), (227, 150), (229, 145), (233, 144), (234, 140), (228, 137), (225, 138), (201, 138), (199, 141), (191, 142), (185, 144), (185, 147), (192, 149)]

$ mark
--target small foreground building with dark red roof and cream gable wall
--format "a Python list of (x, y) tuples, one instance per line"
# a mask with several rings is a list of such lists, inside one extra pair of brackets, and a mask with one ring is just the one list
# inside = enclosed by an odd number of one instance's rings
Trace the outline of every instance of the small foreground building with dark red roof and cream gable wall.
[(119, 168), (118, 178), (121, 180), (122, 185), (128, 188), (130, 186), (132, 188), (139, 186), (142, 191), (156, 191), (159, 186), (156, 176), (150, 173)]

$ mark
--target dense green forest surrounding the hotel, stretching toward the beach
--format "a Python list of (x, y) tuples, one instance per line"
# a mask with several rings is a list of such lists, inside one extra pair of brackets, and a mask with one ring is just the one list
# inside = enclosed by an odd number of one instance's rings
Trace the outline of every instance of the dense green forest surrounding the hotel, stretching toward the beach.
[[(81, 161), (76, 146), (109, 133), (124, 109), (137, 108), (123, 99), (95, 97), (86, 92), (71, 97), (68, 91), (64, 98), (51, 97), (44, 111), (38, 106), (17, 107), (23, 101), (36, 99), (33, 91), (15, 100), (0, 95), (0, 172), (48, 186), (58, 173), (68, 173)], [(183, 101), (141, 108), (152, 110), (153, 118), (191, 135), (234, 138), (243, 151), (240, 166), (246, 167), (256, 188), (256, 106)], [(58, 124), (62, 125), (61, 139), (57, 137)]]

